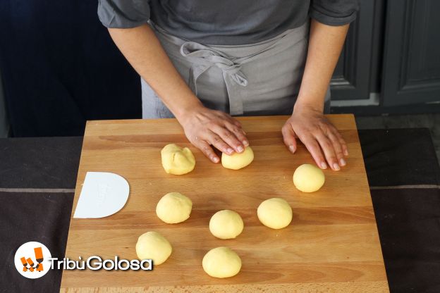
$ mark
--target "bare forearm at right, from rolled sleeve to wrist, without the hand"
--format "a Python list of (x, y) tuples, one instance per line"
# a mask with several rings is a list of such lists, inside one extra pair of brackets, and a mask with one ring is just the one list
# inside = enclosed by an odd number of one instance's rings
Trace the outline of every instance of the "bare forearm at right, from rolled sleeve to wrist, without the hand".
[(341, 54), (349, 25), (329, 26), (312, 19), (304, 75), (295, 108), (323, 111), (326, 90)]

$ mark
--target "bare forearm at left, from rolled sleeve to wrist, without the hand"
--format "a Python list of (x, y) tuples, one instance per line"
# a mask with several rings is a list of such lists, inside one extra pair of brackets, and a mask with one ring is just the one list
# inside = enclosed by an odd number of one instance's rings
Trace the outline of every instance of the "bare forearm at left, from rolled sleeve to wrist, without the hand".
[(176, 116), (202, 106), (174, 68), (149, 25), (130, 29), (109, 29), (111, 38), (131, 66), (149, 84), (164, 104)]

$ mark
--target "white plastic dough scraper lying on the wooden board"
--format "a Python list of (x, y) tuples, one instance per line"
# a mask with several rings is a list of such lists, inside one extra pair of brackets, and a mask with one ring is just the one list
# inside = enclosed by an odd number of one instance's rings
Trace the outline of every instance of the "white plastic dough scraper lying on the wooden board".
[(125, 206), (130, 186), (118, 174), (87, 172), (73, 218), (104, 218)]

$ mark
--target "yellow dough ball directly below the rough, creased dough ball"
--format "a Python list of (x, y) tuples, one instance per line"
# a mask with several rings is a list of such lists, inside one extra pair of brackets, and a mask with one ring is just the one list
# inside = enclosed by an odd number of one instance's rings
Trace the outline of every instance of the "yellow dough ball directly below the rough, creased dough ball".
[(165, 194), (157, 203), (156, 214), (165, 223), (176, 224), (190, 218), (193, 202), (178, 192)]

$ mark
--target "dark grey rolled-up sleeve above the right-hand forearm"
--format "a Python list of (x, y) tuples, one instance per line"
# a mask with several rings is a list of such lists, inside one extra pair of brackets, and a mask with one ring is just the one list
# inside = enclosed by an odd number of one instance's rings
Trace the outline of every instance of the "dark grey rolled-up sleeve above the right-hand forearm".
[(312, 0), (310, 17), (324, 25), (346, 25), (356, 19), (358, 0)]

